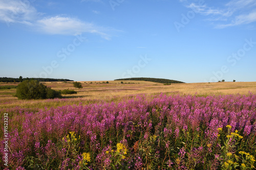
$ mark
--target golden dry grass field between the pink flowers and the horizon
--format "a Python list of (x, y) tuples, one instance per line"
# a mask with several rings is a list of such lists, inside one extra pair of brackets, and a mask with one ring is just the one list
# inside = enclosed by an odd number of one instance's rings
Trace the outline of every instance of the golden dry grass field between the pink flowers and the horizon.
[[(89, 84), (89, 82), (81, 82), (83, 86), (82, 89), (75, 89), (72, 83), (45, 82), (44, 84), (46, 86), (52, 87), (52, 89), (55, 90), (69, 88), (78, 92), (77, 94), (63, 95), (66, 99), (61, 100), (20, 101), (13, 96), (16, 89), (0, 90), (0, 109), (13, 108), (16, 106), (23, 108), (57, 107), (67, 104), (88, 104), (97, 102), (99, 100), (115, 101), (117, 98), (120, 99), (131, 94), (142, 93), (179, 93), (191, 95), (219, 95), (237, 93), (248, 94), (248, 92), (256, 93), (256, 82), (186, 83), (172, 85), (163, 85), (161, 83), (144, 81), (123, 81), (123, 83), (130, 82), (136, 84), (120, 84), (121, 81), (109, 81), (109, 84), (99, 84), (99, 82), (102, 83), (102, 81), (93, 81), (93, 84)], [(0, 86), (3, 85), (18, 85), (18, 83), (0, 83)]]

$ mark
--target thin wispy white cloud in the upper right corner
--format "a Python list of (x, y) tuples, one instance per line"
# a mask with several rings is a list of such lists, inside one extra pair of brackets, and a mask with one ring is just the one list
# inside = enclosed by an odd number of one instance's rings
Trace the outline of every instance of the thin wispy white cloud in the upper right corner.
[(206, 16), (206, 21), (211, 21), (215, 28), (247, 25), (256, 21), (255, 0), (231, 0), (222, 6), (208, 6), (207, 2), (199, 5), (198, 1), (179, 0), (186, 8)]

